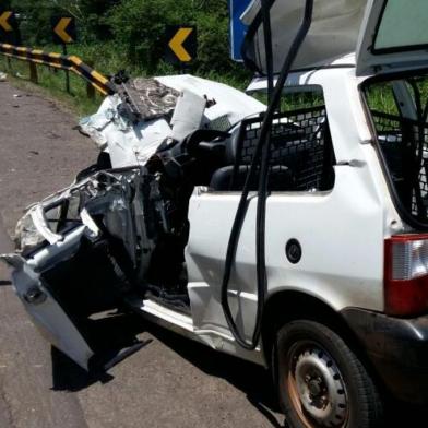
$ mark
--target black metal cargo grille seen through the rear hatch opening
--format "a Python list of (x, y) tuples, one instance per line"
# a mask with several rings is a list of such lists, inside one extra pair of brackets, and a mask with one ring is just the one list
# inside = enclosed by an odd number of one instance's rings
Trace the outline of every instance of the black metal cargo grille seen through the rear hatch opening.
[(428, 123), (372, 111), (378, 141), (404, 207), (428, 221)]

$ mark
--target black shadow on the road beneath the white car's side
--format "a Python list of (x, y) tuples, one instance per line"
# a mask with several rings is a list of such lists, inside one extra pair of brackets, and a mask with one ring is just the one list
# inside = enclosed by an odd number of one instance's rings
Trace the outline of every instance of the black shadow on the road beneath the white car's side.
[[(151, 324), (138, 316), (119, 314), (90, 321), (88, 325), (90, 336), (96, 337), (95, 346), (102, 364), (115, 358), (120, 349), (133, 346), (136, 343), (136, 336), (144, 332), (151, 333), (204, 373), (223, 378), (242, 391), (248, 401), (272, 424), (272, 427), (284, 427), (274, 415), (278, 412), (278, 407), (269, 372), (262, 367), (217, 353)], [(51, 357), (52, 390), (55, 391), (78, 392), (94, 383), (107, 383), (114, 379), (111, 374), (97, 370), (87, 373), (54, 347)]]

